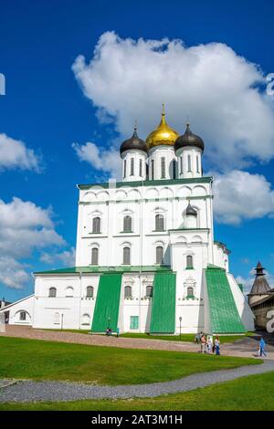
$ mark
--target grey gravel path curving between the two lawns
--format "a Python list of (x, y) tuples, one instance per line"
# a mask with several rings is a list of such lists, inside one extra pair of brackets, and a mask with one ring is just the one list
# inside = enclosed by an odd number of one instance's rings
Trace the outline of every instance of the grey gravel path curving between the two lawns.
[(243, 366), (233, 370), (192, 374), (174, 382), (154, 382), (127, 386), (94, 386), (77, 382), (18, 381), (4, 388), (1, 388), (0, 385), (0, 403), (153, 398), (168, 393), (188, 392), (216, 382), (227, 382), (268, 371), (274, 371), (274, 361), (264, 361), (261, 365)]

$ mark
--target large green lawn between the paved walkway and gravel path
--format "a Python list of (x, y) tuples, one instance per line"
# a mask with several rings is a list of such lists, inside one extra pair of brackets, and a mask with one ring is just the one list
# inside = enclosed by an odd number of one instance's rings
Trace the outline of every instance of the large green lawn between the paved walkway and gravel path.
[(178, 351), (132, 350), (57, 341), (0, 338), (0, 378), (136, 384), (260, 361)]

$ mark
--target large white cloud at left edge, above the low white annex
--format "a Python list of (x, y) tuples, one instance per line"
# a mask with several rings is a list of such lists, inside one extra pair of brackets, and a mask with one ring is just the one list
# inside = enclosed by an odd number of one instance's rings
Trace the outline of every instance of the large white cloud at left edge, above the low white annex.
[(14, 197), (0, 200), (0, 282), (9, 288), (22, 288), (29, 281), (22, 262), (34, 251), (66, 242), (55, 230), (51, 208), (43, 209)]

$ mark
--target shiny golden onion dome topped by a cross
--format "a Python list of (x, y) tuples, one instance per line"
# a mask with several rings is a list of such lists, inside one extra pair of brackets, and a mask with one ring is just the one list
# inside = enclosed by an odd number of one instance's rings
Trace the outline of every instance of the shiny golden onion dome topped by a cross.
[(149, 148), (153, 148), (154, 146), (161, 146), (162, 144), (174, 146), (174, 142), (176, 141), (177, 137), (179, 137), (179, 134), (172, 128), (170, 128), (165, 121), (165, 113), (163, 106), (162, 119), (158, 127), (148, 135), (145, 142)]

